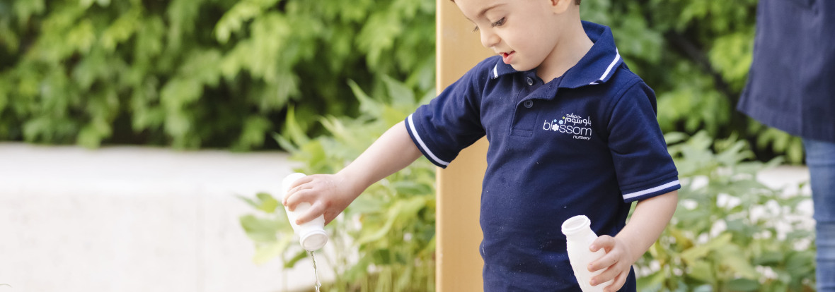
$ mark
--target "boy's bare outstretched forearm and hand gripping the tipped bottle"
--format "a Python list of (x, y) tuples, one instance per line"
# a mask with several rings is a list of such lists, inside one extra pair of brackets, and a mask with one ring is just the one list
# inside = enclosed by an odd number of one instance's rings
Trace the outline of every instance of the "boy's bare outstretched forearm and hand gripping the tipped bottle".
[(305, 176), (296, 181), (281, 203), (290, 210), (295, 210), (301, 202), (311, 203), (310, 210), (299, 215), (296, 224), (322, 214), (328, 224), (368, 186), (402, 170), (421, 155), (401, 121), (337, 174)]

